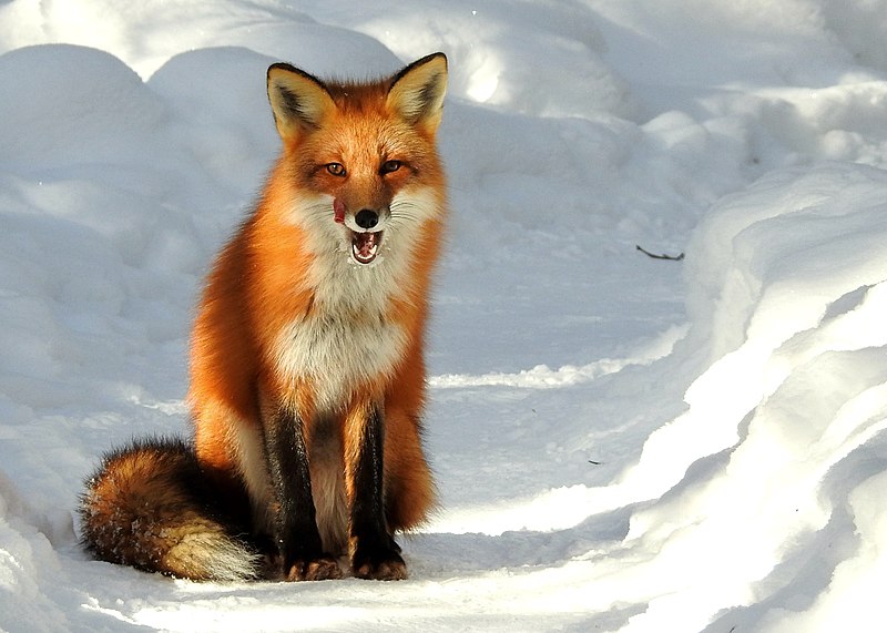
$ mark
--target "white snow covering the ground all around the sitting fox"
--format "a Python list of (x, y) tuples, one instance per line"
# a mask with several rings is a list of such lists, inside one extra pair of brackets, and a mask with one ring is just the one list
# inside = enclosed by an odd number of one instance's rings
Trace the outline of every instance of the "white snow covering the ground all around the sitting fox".
[[(880, 630), (886, 28), (885, 0), (2, 3), (0, 630)], [(99, 456), (187, 432), (196, 293), (277, 150), (266, 67), (436, 50), (441, 508), (410, 579), (89, 560)]]

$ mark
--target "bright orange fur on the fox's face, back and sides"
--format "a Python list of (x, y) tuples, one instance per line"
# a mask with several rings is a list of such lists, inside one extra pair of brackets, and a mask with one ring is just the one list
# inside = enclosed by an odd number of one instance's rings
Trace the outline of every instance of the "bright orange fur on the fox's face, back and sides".
[[(293, 404), (308, 420), (306, 435), (310, 437), (314, 431), (318, 378), (281, 371), (274, 355), (282, 333), (295, 320), (339, 307), (319, 305), (316, 282), (310, 278), (317, 256), (310, 248), (314, 237), (293, 217), (293, 207), (319, 194), (343, 201), (349, 210), (378, 208), (389, 205), (404, 187), (421, 187), (432, 193), (438, 210), (424, 222), (416, 243), (409, 245), (414, 254), (406, 274), (397, 279), (398, 286), (380, 289), (387, 293), (384, 313), (356, 310), (345, 317), (380, 317), (395, 324), (406, 334), (407, 349), (387, 372), (351, 386), (350, 401), (340, 402), (341, 409), (336, 411), (345, 449), (346, 486), (350, 486), (349, 464), (356, 461), (356, 455), (348, 448), (360, 441), (360, 423), (348, 420), (361, 420), (371, 402), (384, 401), (385, 458), (391, 464), (386, 476), (396, 490), (388, 494), (388, 503), (395, 509), (395, 527), (408, 529), (426, 517), (434, 499), (418, 418), (425, 391), (421, 349), (427, 297), (442, 231), (442, 170), (434, 130), (419, 130), (392, 111), (386, 82), (326, 88), (335, 106), (317, 129), (282, 132), (283, 152), (264, 195), (220, 257), (202, 299), (193, 338), (190, 394), (197, 455), (216, 468), (238, 474), (236, 449), (230, 446), (231, 426), (261, 429), (266, 423), (259, 406), (263, 399)], [(390, 156), (407, 163), (410, 173), (401, 169), (380, 176), (379, 165)], [(318, 166), (330, 162), (346, 165), (349, 176), (318, 172)], [(418, 183), (411, 182), (418, 180), (416, 174), (421, 176)], [(332, 207), (328, 222), (333, 222)]]

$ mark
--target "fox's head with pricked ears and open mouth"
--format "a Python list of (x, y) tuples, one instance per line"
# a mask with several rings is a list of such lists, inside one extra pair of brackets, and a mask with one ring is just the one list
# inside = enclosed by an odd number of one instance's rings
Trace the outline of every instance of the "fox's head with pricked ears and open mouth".
[(435, 53), (369, 83), (326, 82), (276, 63), (267, 81), (295, 221), (358, 266), (408, 247), (398, 241), (415, 243), (442, 207), (435, 135), (447, 58)]

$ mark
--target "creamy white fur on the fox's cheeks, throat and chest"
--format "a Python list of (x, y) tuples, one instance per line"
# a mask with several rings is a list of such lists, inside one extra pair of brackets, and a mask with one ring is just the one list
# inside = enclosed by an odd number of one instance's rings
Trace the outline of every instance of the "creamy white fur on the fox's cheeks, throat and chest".
[(410, 294), (415, 244), (426, 222), (442, 213), (432, 191), (396, 195), (377, 261), (359, 266), (350, 259), (350, 237), (330, 222), (332, 210), (333, 201), (320, 196), (294, 211), (314, 255), (299, 290), (308, 289), (314, 304), (308, 316), (282, 329), (274, 349), (284, 376), (316, 387), (320, 411), (347, 406), (355, 391), (391, 375), (402, 359), (408, 333), (387, 315), (395, 298)]

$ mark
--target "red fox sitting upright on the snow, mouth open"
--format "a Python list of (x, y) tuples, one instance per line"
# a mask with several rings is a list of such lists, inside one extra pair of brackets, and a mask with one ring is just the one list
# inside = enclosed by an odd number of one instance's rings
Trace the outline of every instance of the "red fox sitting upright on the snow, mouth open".
[[(98, 559), (194, 580), (399, 580), (435, 503), (424, 339), (447, 212), (447, 59), (368, 83), (267, 73), (283, 149), (197, 310), (194, 440), (104, 457), (80, 507)], [(347, 570), (346, 570), (347, 571)]]

